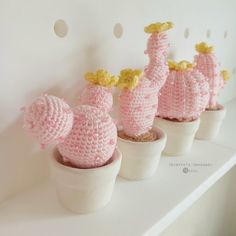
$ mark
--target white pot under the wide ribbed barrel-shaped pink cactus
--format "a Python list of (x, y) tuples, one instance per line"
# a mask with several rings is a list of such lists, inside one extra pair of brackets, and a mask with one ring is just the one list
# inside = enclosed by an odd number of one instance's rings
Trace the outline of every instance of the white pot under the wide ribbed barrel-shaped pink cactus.
[(175, 122), (156, 117), (154, 124), (167, 134), (163, 152), (169, 156), (180, 156), (189, 152), (199, 123), (200, 119), (191, 122)]

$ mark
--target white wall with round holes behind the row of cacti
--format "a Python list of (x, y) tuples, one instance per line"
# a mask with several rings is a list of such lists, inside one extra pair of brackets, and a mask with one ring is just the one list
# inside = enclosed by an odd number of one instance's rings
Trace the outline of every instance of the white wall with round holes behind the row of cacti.
[[(222, 66), (234, 71), (220, 100), (235, 97), (235, 8), (234, 0), (0, 0), (0, 200), (48, 173), (47, 152), (25, 136), (20, 107), (44, 92), (75, 102), (86, 70), (143, 68), (143, 27), (150, 22), (175, 23), (169, 36), (177, 60), (191, 60), (200, 40), (214, 44)], [(64, 38), (53, 30), (58, 19), (69, 27)], [(123, 26), (119, 39), (116, 23)]]

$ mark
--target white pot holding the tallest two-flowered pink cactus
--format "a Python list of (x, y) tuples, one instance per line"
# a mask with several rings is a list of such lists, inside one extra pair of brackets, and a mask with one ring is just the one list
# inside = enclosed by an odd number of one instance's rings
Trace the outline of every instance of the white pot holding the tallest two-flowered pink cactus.
[(141, 180), (155, 173), (166, 144), (166, 134), (161, 129), (154, 130), (159, 139), (150, 142), (133, 142), (118, 137), (118, 148), (122, 152), (121, 177)]

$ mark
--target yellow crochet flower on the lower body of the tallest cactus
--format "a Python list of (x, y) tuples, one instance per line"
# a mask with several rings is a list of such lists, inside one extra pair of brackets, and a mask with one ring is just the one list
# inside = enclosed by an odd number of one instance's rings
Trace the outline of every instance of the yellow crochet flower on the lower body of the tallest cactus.
[(119, 81), (117, 87), (120, 89), (127, 88), (133, 90), (139, 82), (141, 70), (124, 69), (120, 72)]

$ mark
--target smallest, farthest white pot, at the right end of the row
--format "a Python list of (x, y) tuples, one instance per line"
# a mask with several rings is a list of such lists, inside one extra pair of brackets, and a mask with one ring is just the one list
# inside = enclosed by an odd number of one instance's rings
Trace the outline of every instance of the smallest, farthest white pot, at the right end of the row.
[(211, 140), (219, 133), (222, 121), (226, 115), (226, 109), (222, 106), (220, 110), (206, 110), (201, 114), (200, 126), (196, 133), (196, 139)]

